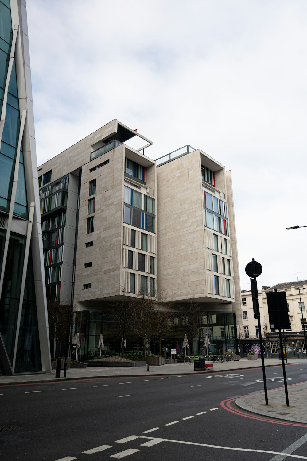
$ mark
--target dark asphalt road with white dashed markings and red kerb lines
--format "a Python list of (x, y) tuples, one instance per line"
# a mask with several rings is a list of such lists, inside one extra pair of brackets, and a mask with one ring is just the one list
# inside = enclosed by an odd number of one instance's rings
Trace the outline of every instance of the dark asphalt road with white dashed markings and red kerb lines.
[[(289, 384), (307, 380), (307, 364), (286, 370)], [(283, 385), (281, 366), (266, 376), (268, 390)], [(259, 368), (1, 386), (0, 460), (307, 459), (307, 425), (227, 407), (261, 380)]]

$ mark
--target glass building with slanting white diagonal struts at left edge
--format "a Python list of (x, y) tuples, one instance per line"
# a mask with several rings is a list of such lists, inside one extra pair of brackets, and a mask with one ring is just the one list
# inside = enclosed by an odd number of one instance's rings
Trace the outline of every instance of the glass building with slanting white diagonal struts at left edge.
[(24, 1), (0, 2), (0, 373), (50, 372)]

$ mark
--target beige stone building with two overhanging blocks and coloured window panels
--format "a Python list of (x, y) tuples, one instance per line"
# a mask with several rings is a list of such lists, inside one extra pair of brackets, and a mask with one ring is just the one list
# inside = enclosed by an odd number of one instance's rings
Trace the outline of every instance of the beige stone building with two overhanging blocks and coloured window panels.
[[(146, 143), (138, 150), (129, 146), (136, 137)], [(203, 312), (194, 350), (208, 327), (213, 352), (234, 349), (241, 299), (230, 171), (190, 146), (155, 162), (144, 155), (150, 144), (113, 120), (38, 168), (47, 298), (73, 298), (83, 312), (85, 355), (108, 331), (106, 303), (123, 293), (163, 293), (177, 306), (193, 298)]]

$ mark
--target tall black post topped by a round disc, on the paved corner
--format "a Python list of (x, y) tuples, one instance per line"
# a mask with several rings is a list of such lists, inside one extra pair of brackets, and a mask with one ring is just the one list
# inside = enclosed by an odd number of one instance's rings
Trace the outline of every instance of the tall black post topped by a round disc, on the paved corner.
[(261, 266), (261, 264), (259, 262), (255, 261), (254, 258), (253, 258), (253, 260), (246, 265), (245, 272), (249, 277), (251, 277), (251, 289), (252, 289), (254, 318), (258, 320), (258, 331), (259, 331), (259, 343), (260, 343), (260, 351), (261, 351), (263, 385), (264, 385), (264, 388), (265, 388), (265, 405), (269, 405), (268, 391), (266, 389), (265, 357), (264, 357), (264, 353), (263, 353), (263, 343), (262, 343), (261, 325), (260, 325), (258, 288), (257, 288), (257, 280), (256, 280), (256, 278), (259, 277), (259, 275), (262, 272), (262, 266)]

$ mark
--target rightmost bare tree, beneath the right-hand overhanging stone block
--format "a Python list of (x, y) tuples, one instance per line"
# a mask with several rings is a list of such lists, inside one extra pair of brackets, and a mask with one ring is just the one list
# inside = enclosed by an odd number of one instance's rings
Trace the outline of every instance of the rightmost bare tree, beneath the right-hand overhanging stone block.
[(183, 332), (187, 333), (187, 337), (191, 341), (191, 352), (194, 355), (193, 338), (198, 334), (199, 317), (203, 313), (202, 306), (195, 296), (191, 296), (187, 302), (181, 304), (179, 312), (181, 315), (182, 334)]

